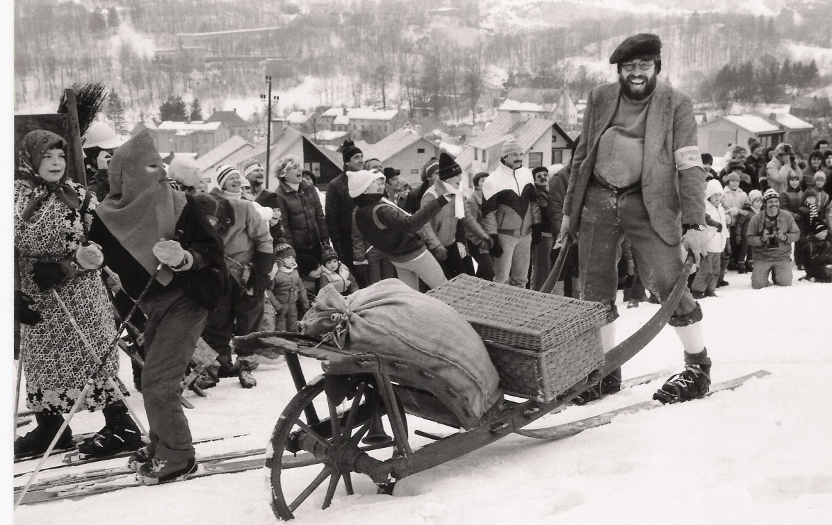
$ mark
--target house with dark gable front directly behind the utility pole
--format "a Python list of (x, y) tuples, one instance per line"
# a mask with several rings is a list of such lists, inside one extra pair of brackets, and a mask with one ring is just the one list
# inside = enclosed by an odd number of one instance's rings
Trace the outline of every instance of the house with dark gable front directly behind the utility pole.
[(241, 152), (230, 156), (225, 164), (240, 165), (248, 159), (257, 159), (265, 168), (268, 165), (270, 172), (266, 185), (274, 189), (278, 184), (278, 177), (274, 173), (275, 164), (285, 156), (292, 156), (298, 159), (304, 169), (309, 169), (318, 179), (318, 184), (328, 184), (330, 180), (337, 177), (343, 169), (341, 155), (334, 151), (326, 150), (324, 147), (315, 145), (306, 138), (300, 131), (290, 126), (284, 126), (282, 121), (272, 122), (271, 147), (268, 148), (268, 164), (266, 159), (265, 140), (250, 151)]

